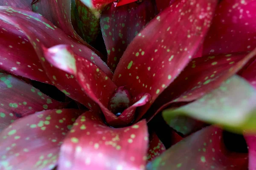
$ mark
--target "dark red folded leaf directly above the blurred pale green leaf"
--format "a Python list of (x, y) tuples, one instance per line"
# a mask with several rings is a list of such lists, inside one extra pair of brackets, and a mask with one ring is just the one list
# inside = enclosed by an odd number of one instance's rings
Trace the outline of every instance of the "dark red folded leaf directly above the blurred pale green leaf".
[[(251, 53), (221, 54), (193, 59), (175, 81), (159, 96), (148, 113), (153, 115), (173, 102), (191, 102), (209, 91), (218, 88), (221, 83), (239, 71), (253, 56)], [(182, 84), (182, 88), (180, 85)], [(157, 111), (156, 111), (157, 110)]]

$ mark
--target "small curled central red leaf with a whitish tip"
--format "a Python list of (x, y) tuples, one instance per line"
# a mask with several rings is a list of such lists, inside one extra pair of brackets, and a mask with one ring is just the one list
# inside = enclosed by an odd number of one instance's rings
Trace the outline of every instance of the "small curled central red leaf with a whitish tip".
[(92, 62), (77, 56), (70, 46), (58, 45), (45, 51), (45, 57), (55, 67), (76, 76), (85, 93), (96, 102), (104, 113), (106, 122), (111, 126), (127, 125), (134, 120), (134, 111), (145, 105), (150, 95), (137, 96), (134, 104), (117, 117), (108, 110), (110, 99), (116, 91), (116, 85), (102, 70)]

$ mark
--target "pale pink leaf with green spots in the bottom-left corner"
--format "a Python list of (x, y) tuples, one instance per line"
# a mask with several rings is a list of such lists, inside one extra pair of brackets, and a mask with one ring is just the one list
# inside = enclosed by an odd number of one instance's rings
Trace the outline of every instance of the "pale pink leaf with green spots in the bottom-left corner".
[(81, 111), (48, 110), (19, 119), (0, 133), (2, 170), (52, 170)]

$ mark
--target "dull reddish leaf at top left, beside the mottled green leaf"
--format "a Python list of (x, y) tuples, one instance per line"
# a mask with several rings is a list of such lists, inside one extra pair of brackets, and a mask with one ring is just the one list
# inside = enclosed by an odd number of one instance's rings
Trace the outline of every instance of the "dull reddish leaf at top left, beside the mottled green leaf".
[(33, 11), (42, 14), (55, 26), (61, 28), (65, 34), (84, 42), (71, 23), (71, 0), (37, 0), (32, 8)]

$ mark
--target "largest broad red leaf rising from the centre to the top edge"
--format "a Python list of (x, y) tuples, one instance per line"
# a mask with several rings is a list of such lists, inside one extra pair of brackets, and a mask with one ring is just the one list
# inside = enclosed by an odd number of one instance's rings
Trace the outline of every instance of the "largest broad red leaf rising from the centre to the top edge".
[(152, 96), (140, 109), (139, 118), (187, 65), (208, 30), (216, 3), (178, 0), (151, 20), (128, 46), (113, 81), (117, 86), (126, 85), (132, 96), (141, 92)]

